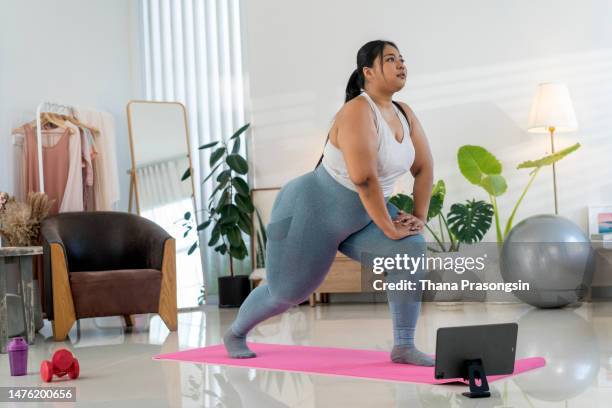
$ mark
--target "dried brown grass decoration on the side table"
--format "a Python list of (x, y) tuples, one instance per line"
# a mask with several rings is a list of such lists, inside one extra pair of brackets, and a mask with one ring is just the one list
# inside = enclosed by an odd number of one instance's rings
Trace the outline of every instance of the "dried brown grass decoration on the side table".
[(29, 193), (25, 203), (0, 192), (0, 235), (4, 246), (39, 243), (40, 223), (49, 214), (51, 200), (44, 193)]

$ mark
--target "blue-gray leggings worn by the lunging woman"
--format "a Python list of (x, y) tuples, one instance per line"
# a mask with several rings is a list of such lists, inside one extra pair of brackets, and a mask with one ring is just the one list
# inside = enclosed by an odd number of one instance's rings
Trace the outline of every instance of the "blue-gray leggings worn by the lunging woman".
[[(396, 207), (387, 203), (387, 209), (394, 218)], [(267, 284), (255, 288), (241, 305), (231, 326), (236, 335), (244, 336), (258, 323), (308, 299), (325, 279), (338, 250), (358, 262), (364, 252), (393, 257), (426, 253), (422, 234), (388, 238), (372, 222), (359, 194), (334, 180), (322, 165), (283, 186), (272, 206), (267, 234)], [(423, 273), (390, 270), (385, 280), (415, 281)], [(413, 306), (406, 309), (411, 316), (403, 320), (414, 330), (421, 291), (387, 295), (390, 306), (392, 301)]]

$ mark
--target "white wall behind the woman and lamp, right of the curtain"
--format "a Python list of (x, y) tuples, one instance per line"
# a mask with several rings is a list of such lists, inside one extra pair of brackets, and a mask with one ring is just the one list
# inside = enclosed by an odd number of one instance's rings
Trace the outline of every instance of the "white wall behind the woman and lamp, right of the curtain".
[[(313, 168), (358, 48), (384, 38), (406, 58), (409, 78), (396, 99), (424, 125), (447, 209), (486, 199), (456, 163), (459, 146), (479, 144), (504, 165), (509, 189), (499, 204), (507, 217), (528, 180), (516, 165), (550, 151), (546, 135), (525, 127), (536, 84), (553, 80), (568, 84), (580, 123), (558, 135), (556, 148), (582, 144), (557, 166), (560, 213), (586, 227), (587, 205), (612, 204), (611, 2), (250, 0), (244, 7), (257, 187)], [(411, 191), (410, 177), (400, 189)], [(553, 211), (548, 168), (516, 219)]]

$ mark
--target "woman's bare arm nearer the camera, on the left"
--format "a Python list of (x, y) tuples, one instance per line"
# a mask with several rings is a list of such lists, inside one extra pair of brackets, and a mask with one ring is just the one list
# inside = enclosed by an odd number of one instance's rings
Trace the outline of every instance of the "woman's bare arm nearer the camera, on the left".
[(367, 101), (356, 98), (347, 103), (336, 117), (336, 126), (338, 147), (364, 208), (387, 237), (398, 239), (378, 182), (378, 135)]

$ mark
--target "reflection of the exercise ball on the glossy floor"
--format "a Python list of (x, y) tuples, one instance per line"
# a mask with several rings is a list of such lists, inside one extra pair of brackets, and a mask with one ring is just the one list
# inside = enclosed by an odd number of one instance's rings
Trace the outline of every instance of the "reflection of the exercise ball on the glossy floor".
[(546, 366), (514, 377), (527, 395), (540, 401), (564, 401), (597, 383), (600, 350), (593, 321), (568, 308), (531, 309), (517, 323), (516, 358), (546, 360)]

